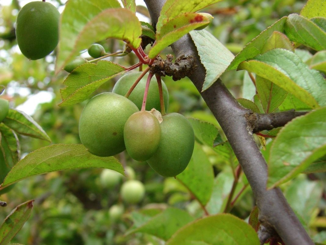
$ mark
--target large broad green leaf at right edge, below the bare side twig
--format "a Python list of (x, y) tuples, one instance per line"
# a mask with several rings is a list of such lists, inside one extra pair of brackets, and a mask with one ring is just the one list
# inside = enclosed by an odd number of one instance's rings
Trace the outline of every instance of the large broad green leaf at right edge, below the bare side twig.
[(275, 138), (268, 164), (268, 188), (298, 175), (310, 163), (325, 155), (326, 107), (286, 124)]

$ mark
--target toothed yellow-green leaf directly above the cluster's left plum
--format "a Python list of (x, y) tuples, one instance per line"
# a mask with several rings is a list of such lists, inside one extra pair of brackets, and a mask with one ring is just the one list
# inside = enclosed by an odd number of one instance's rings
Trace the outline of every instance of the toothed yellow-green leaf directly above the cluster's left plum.
[(64, 81), (67, 88), (60, 90), (63, 102), (59, 106), (70, 106), (84, 101), (109, 79), (125, 72), (126, 68), (106, 60), (100, 60), (97, 64), (82, 64)]

